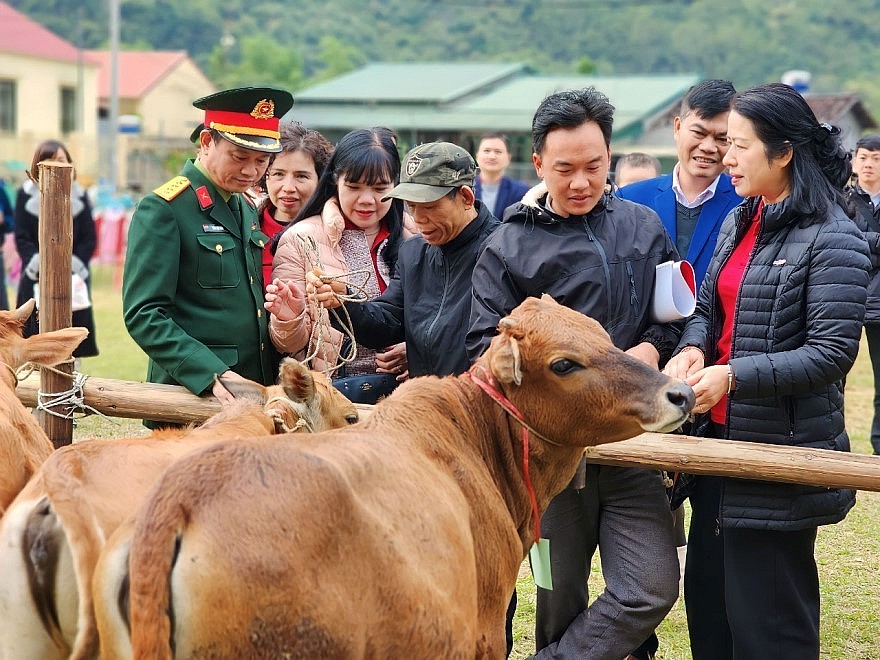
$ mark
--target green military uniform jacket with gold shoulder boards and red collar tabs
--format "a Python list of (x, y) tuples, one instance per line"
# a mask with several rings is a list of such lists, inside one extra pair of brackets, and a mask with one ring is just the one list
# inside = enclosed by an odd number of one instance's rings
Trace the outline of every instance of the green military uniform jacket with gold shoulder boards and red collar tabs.
[(141, 200), (128, 234), (125, 324), (150, 358), (147, 380), (202, 394), (214, 374), (232, 369), (271, 384), (277, 354), (261, 272), (268, 238), (241, 194), (224, 201), (192, 161), (182, 174)]

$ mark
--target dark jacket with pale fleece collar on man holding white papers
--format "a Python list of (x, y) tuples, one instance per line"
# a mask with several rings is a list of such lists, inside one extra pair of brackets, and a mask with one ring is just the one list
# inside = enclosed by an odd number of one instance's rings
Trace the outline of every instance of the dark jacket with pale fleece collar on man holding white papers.
[(584, 216), (561, 218), (526, 195), (505, 212), (474, 270), (467, 349), (472, 360), (489, 345), (499, 319), (529, 296), (550, 294), (593, 317), (620, 349), (649, 342), (661, 361), (672, 354), (682, 324), (649, 320), (656, 267), (678, 259), (657, 214), (603, 196)]

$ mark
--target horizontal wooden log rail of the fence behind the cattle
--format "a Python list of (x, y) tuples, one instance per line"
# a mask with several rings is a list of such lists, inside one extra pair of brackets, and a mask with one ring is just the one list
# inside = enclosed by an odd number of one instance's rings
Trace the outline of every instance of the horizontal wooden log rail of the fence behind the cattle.
[[(16, 393), (24, 405), (36, 406), (38, 384), (39, 379), (33, 376), (19, 383)], [(179, 385), (94, 377), (83, 386), (83, 401), (111, 417), (176, 424), (203, 422), (220, 410), (214, 397), (198, 397)], [(362, 416), (369, 415), (373, 408), (357, 407)], [(826, 449), (643, 433), (629, 440), (589, 447), (586, 454), (589, 462), (605, 465), (880, 491), (880, 456)]]

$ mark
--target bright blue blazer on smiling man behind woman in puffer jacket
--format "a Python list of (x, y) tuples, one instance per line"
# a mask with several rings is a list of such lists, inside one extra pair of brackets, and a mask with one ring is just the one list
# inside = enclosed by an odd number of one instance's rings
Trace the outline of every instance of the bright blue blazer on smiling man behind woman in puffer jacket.
[[(672, 175), (664, 174), (656, 179), (638, 181), (618, 189), (617, 195), (656, 211), (663, 226), (675, 243), (675, 193), (672, 191)], [(742, 197), (736, 194), (730, 176), (722, 174), (715, 188), (715, 195), (703, 205), (694, 236), (684, 258), (691, 262), (697, 278), (697, 287), (703, 282), (706, 270), (715, 252), (718, 230), (731, 209), (739, 206)]]

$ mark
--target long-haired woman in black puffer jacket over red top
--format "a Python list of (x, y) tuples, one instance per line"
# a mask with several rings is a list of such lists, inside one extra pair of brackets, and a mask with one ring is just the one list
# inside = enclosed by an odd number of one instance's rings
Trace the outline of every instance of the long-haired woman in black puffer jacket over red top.
[[(702, 435), (849, 451), (842, 380), (858, 353), (868, 247), (844, 211), (849, 155), (787, 85), (734, 97), (725, 220), (666, 373)], [(685, 603), (694, 660), (819, 657), (819, 525), (853, 491), (697, 477)]]

